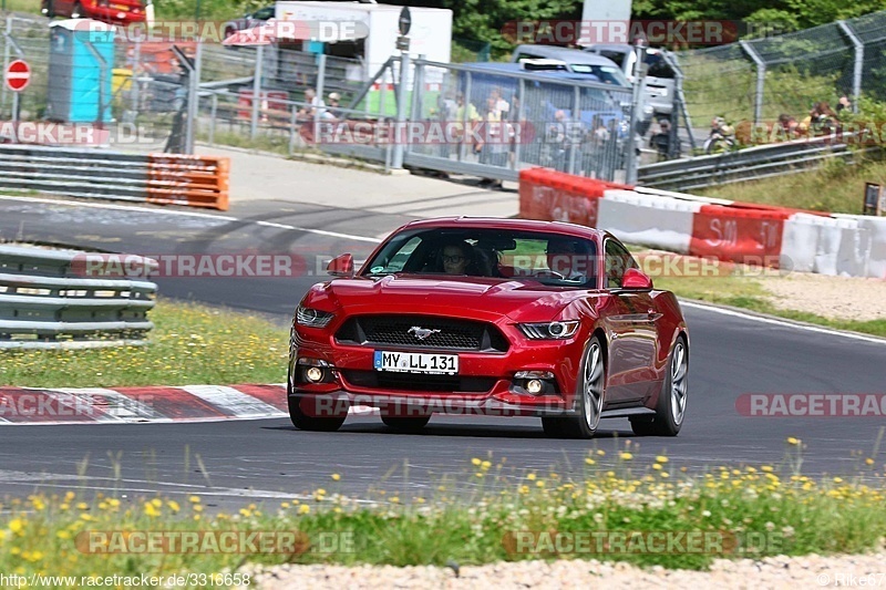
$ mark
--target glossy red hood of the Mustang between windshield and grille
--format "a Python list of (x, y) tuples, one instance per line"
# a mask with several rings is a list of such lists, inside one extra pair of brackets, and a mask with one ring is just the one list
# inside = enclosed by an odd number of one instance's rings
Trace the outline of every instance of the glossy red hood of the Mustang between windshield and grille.
[(474, 277), (337, 279), (315, 286), (307, 306), (348, 313), (446, 314), (495, 321), (549, 321), (569, 303), (596, 291), (548, 287), (537, 281)]

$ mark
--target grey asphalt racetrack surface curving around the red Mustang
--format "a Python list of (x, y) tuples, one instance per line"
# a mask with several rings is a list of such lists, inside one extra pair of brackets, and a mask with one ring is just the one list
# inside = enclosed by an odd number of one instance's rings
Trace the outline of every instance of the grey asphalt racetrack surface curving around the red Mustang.
[[(300, 252), (311, 262), (311, 275), (157, 279), (165, 297), (253, 310), (280, 323), (290, 321), (306, 289), (322, 280), (313, 270), (316, 257), (343, 251), (365, 256), (375, 238), (411, 218), (275, 200), (235, 203), (230, 211), (215, 214), (176, 208), (140, 211), (104, 204), (81, 207), (0, 196), (4, 240), (144, 255)], [(390, 433), (372, 416), (352, 416), (331, 434), (300, 432), (279, 418), (14, 426), (2, 427), (0, 496), (56, 486), (116, 489), (131, 497), (159, 490), (198, 493), (226, 506), (246, 497), (276, 501), (318, 487), (367, 497), (374, 486), (427, 497), (444, 476), (457, 477), (464, 488), (474, 485), (472, 457), (486, 458), (490, 453), (493, 459), (506, 457), (515, 477), (527, 469), (566, 476), (583, 469), (589, 448), (606, 451), (602, 465), (614, 462), (625, 438), (633, 442), (633, 463), (648, 464), (666, 454), (672, 467), (700, 472), (720, 465), (777, 464), (789, 449), (786, 438), (795, 436), (806, 445), (804, 473), (857, 472), (870, 454), (883, 416), (749, 417), (740, 415), (735, 401), (744, 393), (884, 394), (886, 343), (694, 304), (683, 310), (691, 338), (690, 402), (683, 431), (676, 438), (631, 438), (625, 418), (605, 421), (590, 442), (545, 438), (535, 418), (473, 416), (434, 416), (418, 435)], [(862, 455), (854, 455), (858, 451)], [(122, 480), (112, 477), (109, 453), (122, 453)], [(205, 473), (196, 467), (197, 454)], [(882, 463), (879, 458), (878, 466)], [(332, 473), (341, 480), (332, 482)]]

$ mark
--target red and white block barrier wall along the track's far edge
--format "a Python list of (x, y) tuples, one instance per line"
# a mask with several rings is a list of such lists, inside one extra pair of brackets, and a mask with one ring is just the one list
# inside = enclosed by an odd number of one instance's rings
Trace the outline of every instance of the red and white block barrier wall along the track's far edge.
[(830, 215), (521, 172), (521, 217), (607, 229), (631, 244), (822, 275), (886, 278), (886, 218)]

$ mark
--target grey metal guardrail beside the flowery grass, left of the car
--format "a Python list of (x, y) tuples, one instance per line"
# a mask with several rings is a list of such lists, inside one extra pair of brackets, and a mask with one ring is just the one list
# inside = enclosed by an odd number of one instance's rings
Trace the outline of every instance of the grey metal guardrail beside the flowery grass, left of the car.
[[(0, 245), (0, 350), (143, 345), (157, 286), (78, 272), (86, 252)], [(144, 268), (156, 261), (127, 256)], [(85, 265), (82, 265), (85, 270)]]

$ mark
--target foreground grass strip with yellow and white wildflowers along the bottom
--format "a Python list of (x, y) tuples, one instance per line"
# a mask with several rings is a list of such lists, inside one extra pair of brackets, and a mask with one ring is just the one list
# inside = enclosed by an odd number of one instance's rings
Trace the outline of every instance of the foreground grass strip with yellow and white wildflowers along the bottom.
[[(492, 456), (477, 457), (463, 475), (441, 480), (432, 497), (405, 503), (378, 491), (380, 501), (371, 507), (338, 495), (337, 474), (330, 474), (329, 491), (316, 489), (271, 506), (253, 504), (234, 514), (209, 514), (198, 496), (134, 500), (38, 493), (6, 503), (0, 567), (19, 575), (168, 576), (230, 572), (245, 562), (443, 566), (577, 557), (704, 569), (717, 558), (879, 549), (886, 535), (886, 488), (861, 478), (802, 475), (802, 442), (789, 438), (785, 446), (780, 466), (724, 466), (703, 475), (688, 475), (667, 456), (640, 464), (630, 442), (614, 459), (591, 449), (581, 466), (565, 474), (515, 473), (504, 459), (493, 464)], [(874, 457), (865, 458), (861, 468), (875, 475)], [(457, 480), (467, 479), (472, 491), (459, 491)], [(286, 532), (298, 540), (282, 553), (249, 546), (229, 552), (140, 549), (140, 535), (171, 539), (168, 531), (179, 539), (185, 538), (182, 532), (196, 532), (199, 544), (222, 531), (259, 537), (275, 531), (278, 539)], [(591, 545), (576, 553), (558, 551), (546, 540), (587, 534), (640, 539), (664, 531), (703, 532), (722, 542), (698, 551), (664, 551), (636, 540), (624, 549)], [(326, 539), (323, 546), (318, 539)]]

